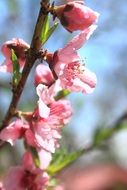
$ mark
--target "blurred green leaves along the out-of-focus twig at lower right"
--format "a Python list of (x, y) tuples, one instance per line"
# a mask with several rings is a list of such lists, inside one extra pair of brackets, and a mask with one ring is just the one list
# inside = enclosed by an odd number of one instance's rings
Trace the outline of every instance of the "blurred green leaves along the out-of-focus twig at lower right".
[(124, 128), (127, 128), (127, 123), (121, 123), (110, 128), (98, 128), (95, 131), (93, 143), (89, 147), (71, 153), (67, 151), (67, 149), (65, 148), (57, 150), (56, 153), (53, 155), (53, 160), (50, 166), (48, 167), (47, 172), (51, 176), (54, 176), (62, 169), (76, 161), (83, 154), (87, 154), (89, 151), (101, 147), (103, 143), (105, 143), (106, 140), (111, 138), (114, 133)]

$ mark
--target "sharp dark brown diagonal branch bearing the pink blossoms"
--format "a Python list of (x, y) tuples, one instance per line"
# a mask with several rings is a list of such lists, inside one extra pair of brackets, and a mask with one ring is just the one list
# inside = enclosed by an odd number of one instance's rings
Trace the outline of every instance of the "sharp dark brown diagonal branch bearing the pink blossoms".
[(35, 60), (37, 59), (37, 54), (42, 46), (40, 36), (41, 36), (44, 19), (46, 15), (48, 14), (48, 11), (47, 11), (48, 6), (44, 6), (44, 5), (48, 5), (46, 0), (43, 1), (43, 3), (41, 2), (41, 8), (40, 8), (38, 19), (36, 22), (30, 49), (26, 57), (26, 63), (22, 72), (22, 78), (19, 81), (19, 84), (17, 85), (17, 87), (13, 91), (12, 100), (8, 108), (7, 114), (2, 122), (0, 131), (9, 124), (9, 121), (12, 119), (15, 113), (17, 104), (19, 102), (20, 96), (22, 94), (22, 91), (24, 89), (24, 86), (27, 80), (27, 77), (34, 65)]

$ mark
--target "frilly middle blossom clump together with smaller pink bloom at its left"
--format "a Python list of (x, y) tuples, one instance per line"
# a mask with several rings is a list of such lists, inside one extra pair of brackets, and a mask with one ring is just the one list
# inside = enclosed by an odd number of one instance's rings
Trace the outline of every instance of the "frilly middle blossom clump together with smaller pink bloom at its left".
[(43, 160), (42, 168), (49, 165), (51, 154), (59, 147), (61, 127), (69, 122), (72, 115), (68, 100), (55, 101), (57, 90), (56, 83), (50, 88), (42, 84), (38, 85), (37, 94), (40, 101), (31, 118), (26, 121), (25, 118), (17, 119), (0, 133), (0, 139), (12, 145), (17, 139), (24, 138), (28, 145), (35, 147)]

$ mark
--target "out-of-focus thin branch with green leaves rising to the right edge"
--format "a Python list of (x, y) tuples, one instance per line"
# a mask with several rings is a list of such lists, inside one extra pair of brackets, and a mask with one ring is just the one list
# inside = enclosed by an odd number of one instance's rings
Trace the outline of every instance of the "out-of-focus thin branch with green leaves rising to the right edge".
[(61, 155), (60, 152), (57, 159), (54, 159), (54, 161), (48, 167), (48, 173), (50, 175), (55, 175), (62, 169), (74, 163), (82, 155), (87, 154), (93, 150), (106, 148), (106, 141), (109, 140), (116, 132), (127, 127), (127, 125), (122, 124), (126, 119), (127, 112), (124, 112), (123, 115), (121, 115), (121, 117), (119, 117), (112, 126), (97, 128), (93, 136), (93, 142), (89, 146), (72, 153), (66, 152), (64, 155)]

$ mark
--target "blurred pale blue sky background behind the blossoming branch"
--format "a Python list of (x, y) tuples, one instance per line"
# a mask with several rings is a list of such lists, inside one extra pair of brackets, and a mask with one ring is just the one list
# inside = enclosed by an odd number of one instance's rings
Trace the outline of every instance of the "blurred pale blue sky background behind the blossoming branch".
[[(0, 0), (0, 46), (16, 37), (30, 43), (39, 2), (39, 0)], [(68, 96), (72, 102), (74, 115), (64, 129), (63, 142), (72, 150), (88, 146), (97, 128), (114, 125), (127, 111), (127, 1), (85, 0), (85, 4), (99, 12), (100, 18), (97, 30), (79, 53), (86, 66), (96, 73), (98, 84), (91, 95), (72, 93)], [(45, 48), (55, 51), (71, 38), (72, 35), (59, 25)], [(0, 54), (1, 64), (3, 60), (4, 57)], [(24, 111), (34, 109), (37, 101), (34, 86), (29, 87), (33, 85), (31, 79), (32, 74), (19, 104), (19, 108)], [(0, 73), (0, 121), (11, 100), (10, 80), (9, 74)], [(126, 168), (126, 147), (127, 130), (121, 129), (108, 141), (106, 150), (92, 151), (76, 164), (87, 167), (108, 162)], [(21, 150), (22, 145), (17, 143), (15, 150), (7, 146), (6, 150), (3, 148), (0, 151), (1, 173), (10, 164), (18, 163)]]

